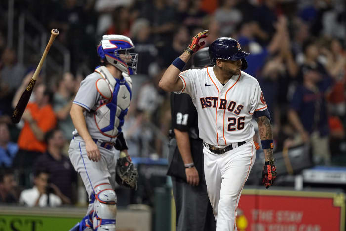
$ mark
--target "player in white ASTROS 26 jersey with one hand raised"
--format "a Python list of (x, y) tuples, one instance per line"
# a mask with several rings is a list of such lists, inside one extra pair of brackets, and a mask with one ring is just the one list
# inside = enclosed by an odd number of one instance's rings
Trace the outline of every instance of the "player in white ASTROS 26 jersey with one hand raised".
[(268, 188), (276, 178), (270, 116), (259, 83), (242, 71), (249, 54), (235, 39), (221, 37), (209, 46), (213, 67), (181, 72), (192, 54), (204, 45), (199, 40), (207, 33), (202, 31), (191, 39), (183, 54), (168, 67), (159, 86), (191, 96), (204, 145), (204, 174), (216, 230), (234, 231), (240, 194), (256, 157), (252, 117), (258, 123), (265, 155), (262, 182)]

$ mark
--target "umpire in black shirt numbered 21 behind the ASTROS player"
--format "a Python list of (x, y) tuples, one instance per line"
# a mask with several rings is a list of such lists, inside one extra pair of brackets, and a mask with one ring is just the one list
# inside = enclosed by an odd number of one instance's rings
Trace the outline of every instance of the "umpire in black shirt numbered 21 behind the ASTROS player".
[[(210, 65), (208, 47), (193, 57), (195, 69)], [(204, 178), (203, 144), (198, 137), (197, 110), (188, 94), (171, 92), (172, 130), (167, 175), (172, 177), (176, 231), (216, 231)]]

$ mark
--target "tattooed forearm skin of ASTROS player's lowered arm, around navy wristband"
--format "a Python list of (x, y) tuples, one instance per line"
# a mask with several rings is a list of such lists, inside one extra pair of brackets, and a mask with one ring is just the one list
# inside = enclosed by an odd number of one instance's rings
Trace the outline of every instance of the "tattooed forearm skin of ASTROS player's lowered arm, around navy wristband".
[[(259, 127), (259, 137), (261, 140), (270, 140), (273, 139), (273, 133), (271, 131), (270, 120), (266, 116), (260, 116), (255, 118), (257, 125)], [(263, 149), (265, 161), (273, 160), (273, 151), (272, 149)]]

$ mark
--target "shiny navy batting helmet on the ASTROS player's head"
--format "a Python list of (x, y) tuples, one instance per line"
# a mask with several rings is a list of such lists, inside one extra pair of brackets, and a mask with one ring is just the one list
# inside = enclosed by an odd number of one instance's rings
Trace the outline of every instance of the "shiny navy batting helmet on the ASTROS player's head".
[(216, 59), (236, 61), (242, 60), (242, 70), (248, 67), (245, 59), (249, 54), (242, 51), (237, 40), (230, 37), (221, 37), (216, 39), (208, 49), (211, 63), (215, 64)]

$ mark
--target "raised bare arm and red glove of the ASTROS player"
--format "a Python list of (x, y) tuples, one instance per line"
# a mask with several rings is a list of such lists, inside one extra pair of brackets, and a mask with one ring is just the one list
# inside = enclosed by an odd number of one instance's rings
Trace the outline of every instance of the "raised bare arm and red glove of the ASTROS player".
[(185, 67), (186, 63), (191, 58), (192, 54), (197, 52), (205, 42), (199, 43), (199, 40), (208, 36), (208, 30), (201, 31), (192, 37), (189, 46), (184, 52), (176, 58), (163, 74), (159, 87), (166, 92), (180, 91), (183, 88), (183, 83), (180, 80), (179, 73)]

